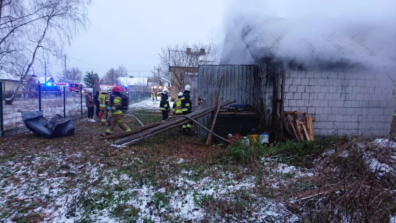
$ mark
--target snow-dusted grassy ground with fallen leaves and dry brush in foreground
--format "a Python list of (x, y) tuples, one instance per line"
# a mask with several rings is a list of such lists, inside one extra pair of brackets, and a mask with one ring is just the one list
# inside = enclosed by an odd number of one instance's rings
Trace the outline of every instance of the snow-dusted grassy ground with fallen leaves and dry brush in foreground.
[(171, 130), (114, 148), (97, 140), (105, 127), (75, 125), (70, 137), (2, 139), (1, 221), (386, 222), (396, 211), (387, 139), (227, 147)]

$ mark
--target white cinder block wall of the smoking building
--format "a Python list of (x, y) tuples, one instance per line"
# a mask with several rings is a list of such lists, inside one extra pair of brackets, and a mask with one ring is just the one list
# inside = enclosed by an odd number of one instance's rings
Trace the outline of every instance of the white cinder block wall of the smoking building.
[(392, 84), (385, 74), (286, 71), (284, 108), (316, 117), (315, 135), (387, 136)]

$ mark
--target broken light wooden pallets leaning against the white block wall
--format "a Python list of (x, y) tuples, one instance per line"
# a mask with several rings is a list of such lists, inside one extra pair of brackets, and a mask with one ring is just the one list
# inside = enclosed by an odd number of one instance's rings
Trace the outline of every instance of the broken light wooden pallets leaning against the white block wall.
[(307, 113), (297, 111), (285, 111), (284, 116), (289, 127), (289, 131), (294, 134), (297, 141), (315, 139), (314, 134), (314, 120), (313, 117), (308, 117)]

